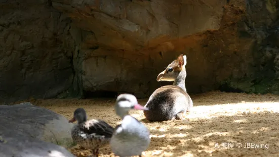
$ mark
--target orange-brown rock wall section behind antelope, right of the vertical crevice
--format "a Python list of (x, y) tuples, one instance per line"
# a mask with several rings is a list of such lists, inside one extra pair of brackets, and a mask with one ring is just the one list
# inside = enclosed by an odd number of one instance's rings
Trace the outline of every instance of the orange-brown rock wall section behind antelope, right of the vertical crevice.
[[(277, 93), (276, 1), (60, 1), (84, 30), (76, 73), (84, 91), (148, 97), (157, 74), (187, 55), (189, 93)], [(74, 37), (77, 38), (77, 37)], [(78, 37), (81, 38), (81, 37)], [(161, 85), (166, 85), (161, 84)]]

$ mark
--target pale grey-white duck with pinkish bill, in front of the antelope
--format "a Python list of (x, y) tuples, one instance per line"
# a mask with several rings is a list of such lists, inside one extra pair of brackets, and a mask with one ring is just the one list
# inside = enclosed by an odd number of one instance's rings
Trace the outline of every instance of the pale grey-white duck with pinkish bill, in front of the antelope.
[(115, 112), (122, 119), (122, 124), (114, 129), (110, 140), (110, 148), (115, 155), (141, 156), (149, 144), (149, 131), (133, 116), (129, 115), (131, 109), (148, 110), (138, 104), (137, 98), (132, 94), (121, 94), (116, 99)]

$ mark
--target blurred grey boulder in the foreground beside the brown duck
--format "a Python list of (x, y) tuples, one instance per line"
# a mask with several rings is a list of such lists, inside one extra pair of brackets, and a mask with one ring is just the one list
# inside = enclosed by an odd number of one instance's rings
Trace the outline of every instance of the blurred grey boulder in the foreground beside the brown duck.
[(0, 105), (0, 119), (0, 135), (35, 138), (62, 146), (72, 144), (73, 124), (64, 116), (29, 102)]

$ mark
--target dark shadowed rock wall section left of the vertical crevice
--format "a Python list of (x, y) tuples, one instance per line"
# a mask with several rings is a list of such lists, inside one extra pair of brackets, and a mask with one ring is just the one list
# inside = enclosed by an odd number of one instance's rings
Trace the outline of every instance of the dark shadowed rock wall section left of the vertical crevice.
[(0, 1), (0, 101), (51, 98), (73, 82), (70, 20), (49, 1)]

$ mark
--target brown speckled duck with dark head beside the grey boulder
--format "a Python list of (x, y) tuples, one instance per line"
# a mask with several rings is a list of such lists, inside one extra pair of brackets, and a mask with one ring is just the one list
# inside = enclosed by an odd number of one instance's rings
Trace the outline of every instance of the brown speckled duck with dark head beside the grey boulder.
[(77, 121), (71, 130), (71, 136), (78, 145), (91, 149), (94, 156), (99, 156), (99, 148), (109, 144), (113, 128), (103, 120), (87, 120), (86, 111), (77, 108), (69, 123)]

